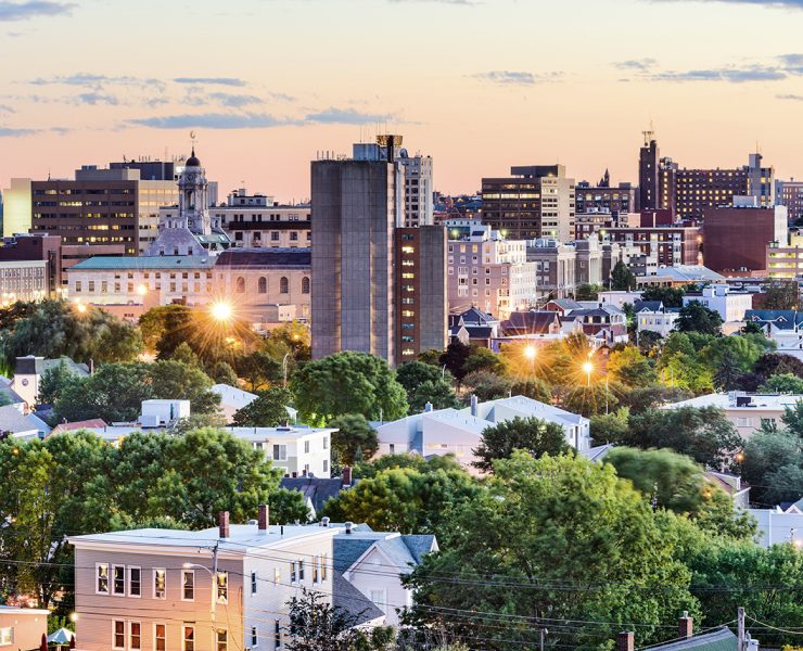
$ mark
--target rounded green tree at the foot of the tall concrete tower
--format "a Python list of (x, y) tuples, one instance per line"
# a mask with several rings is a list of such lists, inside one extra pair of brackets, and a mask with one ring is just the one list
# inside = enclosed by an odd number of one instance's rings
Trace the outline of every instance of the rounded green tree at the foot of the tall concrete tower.
[(293, 375), (295, 406), (308, 422), (344, 413), (395, 420), (407, 413), (407, 395), (381, 357), (335, 353), (310, 361)]

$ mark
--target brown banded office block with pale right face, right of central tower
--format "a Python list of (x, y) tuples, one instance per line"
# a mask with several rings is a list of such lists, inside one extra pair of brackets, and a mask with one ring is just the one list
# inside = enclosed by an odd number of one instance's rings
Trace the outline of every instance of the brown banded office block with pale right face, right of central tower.
[(574, 239), (575, 186), (563, 165), (511, 167), (483, 178), (483, 224), (515, 240)]

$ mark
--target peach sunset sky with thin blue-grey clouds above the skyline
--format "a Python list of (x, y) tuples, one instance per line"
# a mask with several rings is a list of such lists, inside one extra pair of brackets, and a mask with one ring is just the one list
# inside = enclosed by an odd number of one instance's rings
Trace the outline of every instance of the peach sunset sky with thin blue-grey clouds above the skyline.
[(0, 188), (197, 154), (224, 196), (309, 196), (378, 131), (435, 188), (511, 165), (637, 181), (641, 132), (687, 167), (756, 146), (803, 178), (803, 0), (0, 0)]

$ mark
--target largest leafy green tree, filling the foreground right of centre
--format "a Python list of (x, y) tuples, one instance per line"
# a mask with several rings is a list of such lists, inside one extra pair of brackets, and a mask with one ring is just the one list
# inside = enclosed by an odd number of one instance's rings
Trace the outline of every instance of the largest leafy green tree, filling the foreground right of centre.
[[(411, 624), (443, 625), (488, 640), (483, 648), (507, 649), (538, 642), (533, 621), (569, 620), (572, 628), (550, 628), (551, 644), (604, 648), (622, 622), (638, 622), (637, 643), (648, 644), (665, 639), (661, 626), (680, 610), (699, 614), (675, 535), (613, 467), (514, 452), (494, 470), (474, 499), (447, 508), (442, 551), (407, 577), (420, 604)], [(502, 612), (506, 623), (437, 615), (463, 611)]]

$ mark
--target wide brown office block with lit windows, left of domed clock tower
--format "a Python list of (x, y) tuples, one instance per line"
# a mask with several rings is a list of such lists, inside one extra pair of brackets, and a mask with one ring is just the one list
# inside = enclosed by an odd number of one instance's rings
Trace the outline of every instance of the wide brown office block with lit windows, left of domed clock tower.
[(31, 229), (61, 235), (64, 244), (122, 244), (144, 253), (158, 235), (160, 207), (178, 202), (176, 182), (142, 180), (139, 169), (76, 170), (75, 179), (30, 183)]

